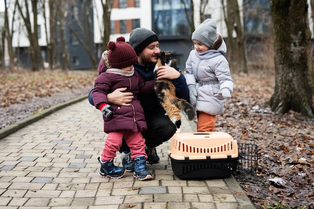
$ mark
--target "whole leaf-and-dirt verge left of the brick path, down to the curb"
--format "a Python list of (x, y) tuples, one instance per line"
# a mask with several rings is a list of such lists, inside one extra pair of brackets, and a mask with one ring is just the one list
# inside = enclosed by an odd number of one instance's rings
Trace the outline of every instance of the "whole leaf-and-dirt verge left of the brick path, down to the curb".
[(88, 94), (97, 72), (17, 70), (0, 74), (0, 129), (53, 105)]

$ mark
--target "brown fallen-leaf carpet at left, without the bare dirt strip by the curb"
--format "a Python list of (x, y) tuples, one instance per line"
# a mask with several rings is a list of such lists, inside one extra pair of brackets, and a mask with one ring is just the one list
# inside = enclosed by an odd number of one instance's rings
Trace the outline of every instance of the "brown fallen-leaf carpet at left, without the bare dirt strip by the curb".
[(0, 76), (1, 107), (21, 103), (28, 98), (51, 96), (54, 93), (90, 86), (97, 74), (91, 71), (39, 71), (20, 70), (2, 72)]

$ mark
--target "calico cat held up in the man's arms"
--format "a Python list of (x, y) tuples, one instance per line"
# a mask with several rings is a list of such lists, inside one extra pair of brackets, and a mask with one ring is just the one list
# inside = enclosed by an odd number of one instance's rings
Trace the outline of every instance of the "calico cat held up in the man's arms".
[(177, 126), (177, 129), (179, 129), (180, 131), (181, 110), (183, 110), (187, 114), (189, 120), (194, 119), (196, 112), (193, 106), (187, 100), (180, 99), (176, 96), (176, 87), (171, 80), (157, 78), (158, 67), (165, 65), (165, 63), (177, 69), (177, 60), (171, 59), (171, 53), (161, 52), (154, 68), (154, 89), (161, 105), (166, 110), (166, 113), (169, 116), (170, 120)]

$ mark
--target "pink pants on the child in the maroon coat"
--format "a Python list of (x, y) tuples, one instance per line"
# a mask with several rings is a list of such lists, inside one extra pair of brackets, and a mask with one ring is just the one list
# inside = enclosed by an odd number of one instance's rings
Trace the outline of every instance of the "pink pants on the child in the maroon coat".
[(101, 154), (101, 160), (103, 162), (111, 160), (116, 156), (116, 152), (119, 151), (122, 144), (123, 135), (126, 144), (132, 151), (132, 159), (140, 155), (144, 155), (145, 158), (147, 158), (145, 153), (145, 139), (143, 139), (141, 131), (117, 131), (108, 133), (108, 137), (106, 138)]

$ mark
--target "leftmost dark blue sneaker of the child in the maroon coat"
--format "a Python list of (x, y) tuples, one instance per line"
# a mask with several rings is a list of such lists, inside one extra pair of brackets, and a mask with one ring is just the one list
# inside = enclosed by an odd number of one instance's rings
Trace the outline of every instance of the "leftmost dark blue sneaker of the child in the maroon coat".
[(113, 158), (103, 162), (101, 161), (100, 157), (98, 157), (98, 161), (101, 165), (99, 175), (102, 177), (121, 178), (126, 172), (124, 167), (115, 166), (113, 164)]

